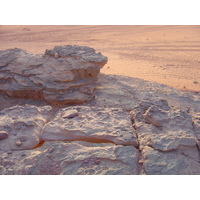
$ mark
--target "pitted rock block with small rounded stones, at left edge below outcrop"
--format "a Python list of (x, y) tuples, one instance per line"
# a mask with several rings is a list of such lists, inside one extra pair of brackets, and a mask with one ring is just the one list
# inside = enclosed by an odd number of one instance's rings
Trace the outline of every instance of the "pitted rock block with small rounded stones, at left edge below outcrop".
[(51, 116), (51, 106), (14, 106), (0, 111), (0, 150), (32, 149)]

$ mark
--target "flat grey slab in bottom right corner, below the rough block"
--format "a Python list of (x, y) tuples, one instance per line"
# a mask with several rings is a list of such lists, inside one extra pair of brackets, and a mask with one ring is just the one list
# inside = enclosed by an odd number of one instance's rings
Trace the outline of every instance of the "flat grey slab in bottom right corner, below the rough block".
[(147, 175), (200, 175), (200, 162), (179, 151), (161, 152), (151, 147), (143, 150)]

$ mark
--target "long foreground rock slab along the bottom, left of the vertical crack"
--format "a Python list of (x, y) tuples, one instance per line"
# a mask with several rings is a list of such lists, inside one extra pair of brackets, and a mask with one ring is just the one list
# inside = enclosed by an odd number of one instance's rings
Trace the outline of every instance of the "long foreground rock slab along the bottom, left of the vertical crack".
[(34, 150), (2, 153), (0, 174), (128, 175), (138, 174), (133, 146), (87, 142), (46, 142)]

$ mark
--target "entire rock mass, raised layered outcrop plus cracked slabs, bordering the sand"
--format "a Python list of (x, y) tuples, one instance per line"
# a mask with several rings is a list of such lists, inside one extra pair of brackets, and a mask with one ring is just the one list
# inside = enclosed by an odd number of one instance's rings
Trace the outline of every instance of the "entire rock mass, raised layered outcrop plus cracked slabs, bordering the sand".
[(200, 174), (199, 93), (98, 75), (107, 59), (89, 49), (0, 53), (0, 174)]

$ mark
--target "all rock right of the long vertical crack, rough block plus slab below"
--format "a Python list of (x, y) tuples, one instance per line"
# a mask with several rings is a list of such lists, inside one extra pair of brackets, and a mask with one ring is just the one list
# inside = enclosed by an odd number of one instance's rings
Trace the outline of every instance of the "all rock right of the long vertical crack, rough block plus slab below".
[(143, 163), (143, 174), (200, 174), (200, 152), (192, 120), (197, 117), (159, 99), (143, 100), (131, 116), (142, 153), (139, 162)]

